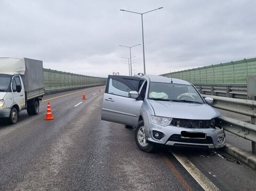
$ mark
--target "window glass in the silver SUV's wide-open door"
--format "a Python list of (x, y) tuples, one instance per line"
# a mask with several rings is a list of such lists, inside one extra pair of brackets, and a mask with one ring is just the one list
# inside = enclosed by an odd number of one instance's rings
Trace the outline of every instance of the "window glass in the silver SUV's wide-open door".
[(128, 97), (131, 90), (127, 85), (112, 78), (109, 79), (108, 93)]

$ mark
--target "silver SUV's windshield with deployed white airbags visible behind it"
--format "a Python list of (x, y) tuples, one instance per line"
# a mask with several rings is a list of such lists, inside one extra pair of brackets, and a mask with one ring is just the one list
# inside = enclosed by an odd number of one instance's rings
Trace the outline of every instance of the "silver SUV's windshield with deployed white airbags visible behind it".
[(148, 99), (203, 104), (201, 96), (192, 85), (151, 82)]

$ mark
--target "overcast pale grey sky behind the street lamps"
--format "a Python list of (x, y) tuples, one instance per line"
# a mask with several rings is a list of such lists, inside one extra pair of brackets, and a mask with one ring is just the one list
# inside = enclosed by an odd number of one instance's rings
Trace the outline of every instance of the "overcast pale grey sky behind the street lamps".
[(0, 0), (0, 57), (44, 68), (128, 75), (129, 48), (143, 72), (168, 73), (256, 57), (255, 0)]

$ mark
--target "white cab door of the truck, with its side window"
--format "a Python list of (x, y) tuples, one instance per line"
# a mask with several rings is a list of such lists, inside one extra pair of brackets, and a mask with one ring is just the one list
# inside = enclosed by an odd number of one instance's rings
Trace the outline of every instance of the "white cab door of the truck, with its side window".
[[(21, 92), (17, 92), (16, 85), (21, 86)], [(20, 76), (12, 77), (12, 95), (13, 102), (19, 105), (20, 110), (25, 107), (25, 91), (23, 87), (23, 83), (21, 83)]]

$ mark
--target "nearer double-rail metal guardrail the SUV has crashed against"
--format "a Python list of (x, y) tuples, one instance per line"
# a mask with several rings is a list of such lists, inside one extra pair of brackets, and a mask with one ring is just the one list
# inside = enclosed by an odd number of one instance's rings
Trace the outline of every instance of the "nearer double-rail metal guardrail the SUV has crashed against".
[(256, 154), (256, 101), (211, 95), (202, 96), (213, 98), (214, 103), (211, 106), (214, 108), (223, 109), (251, 117), (251, 122), (248, 123), (221, 116), (217, 118), (216, 125), (222, 126), (225, 131), (252, 141), (252, 152)]

